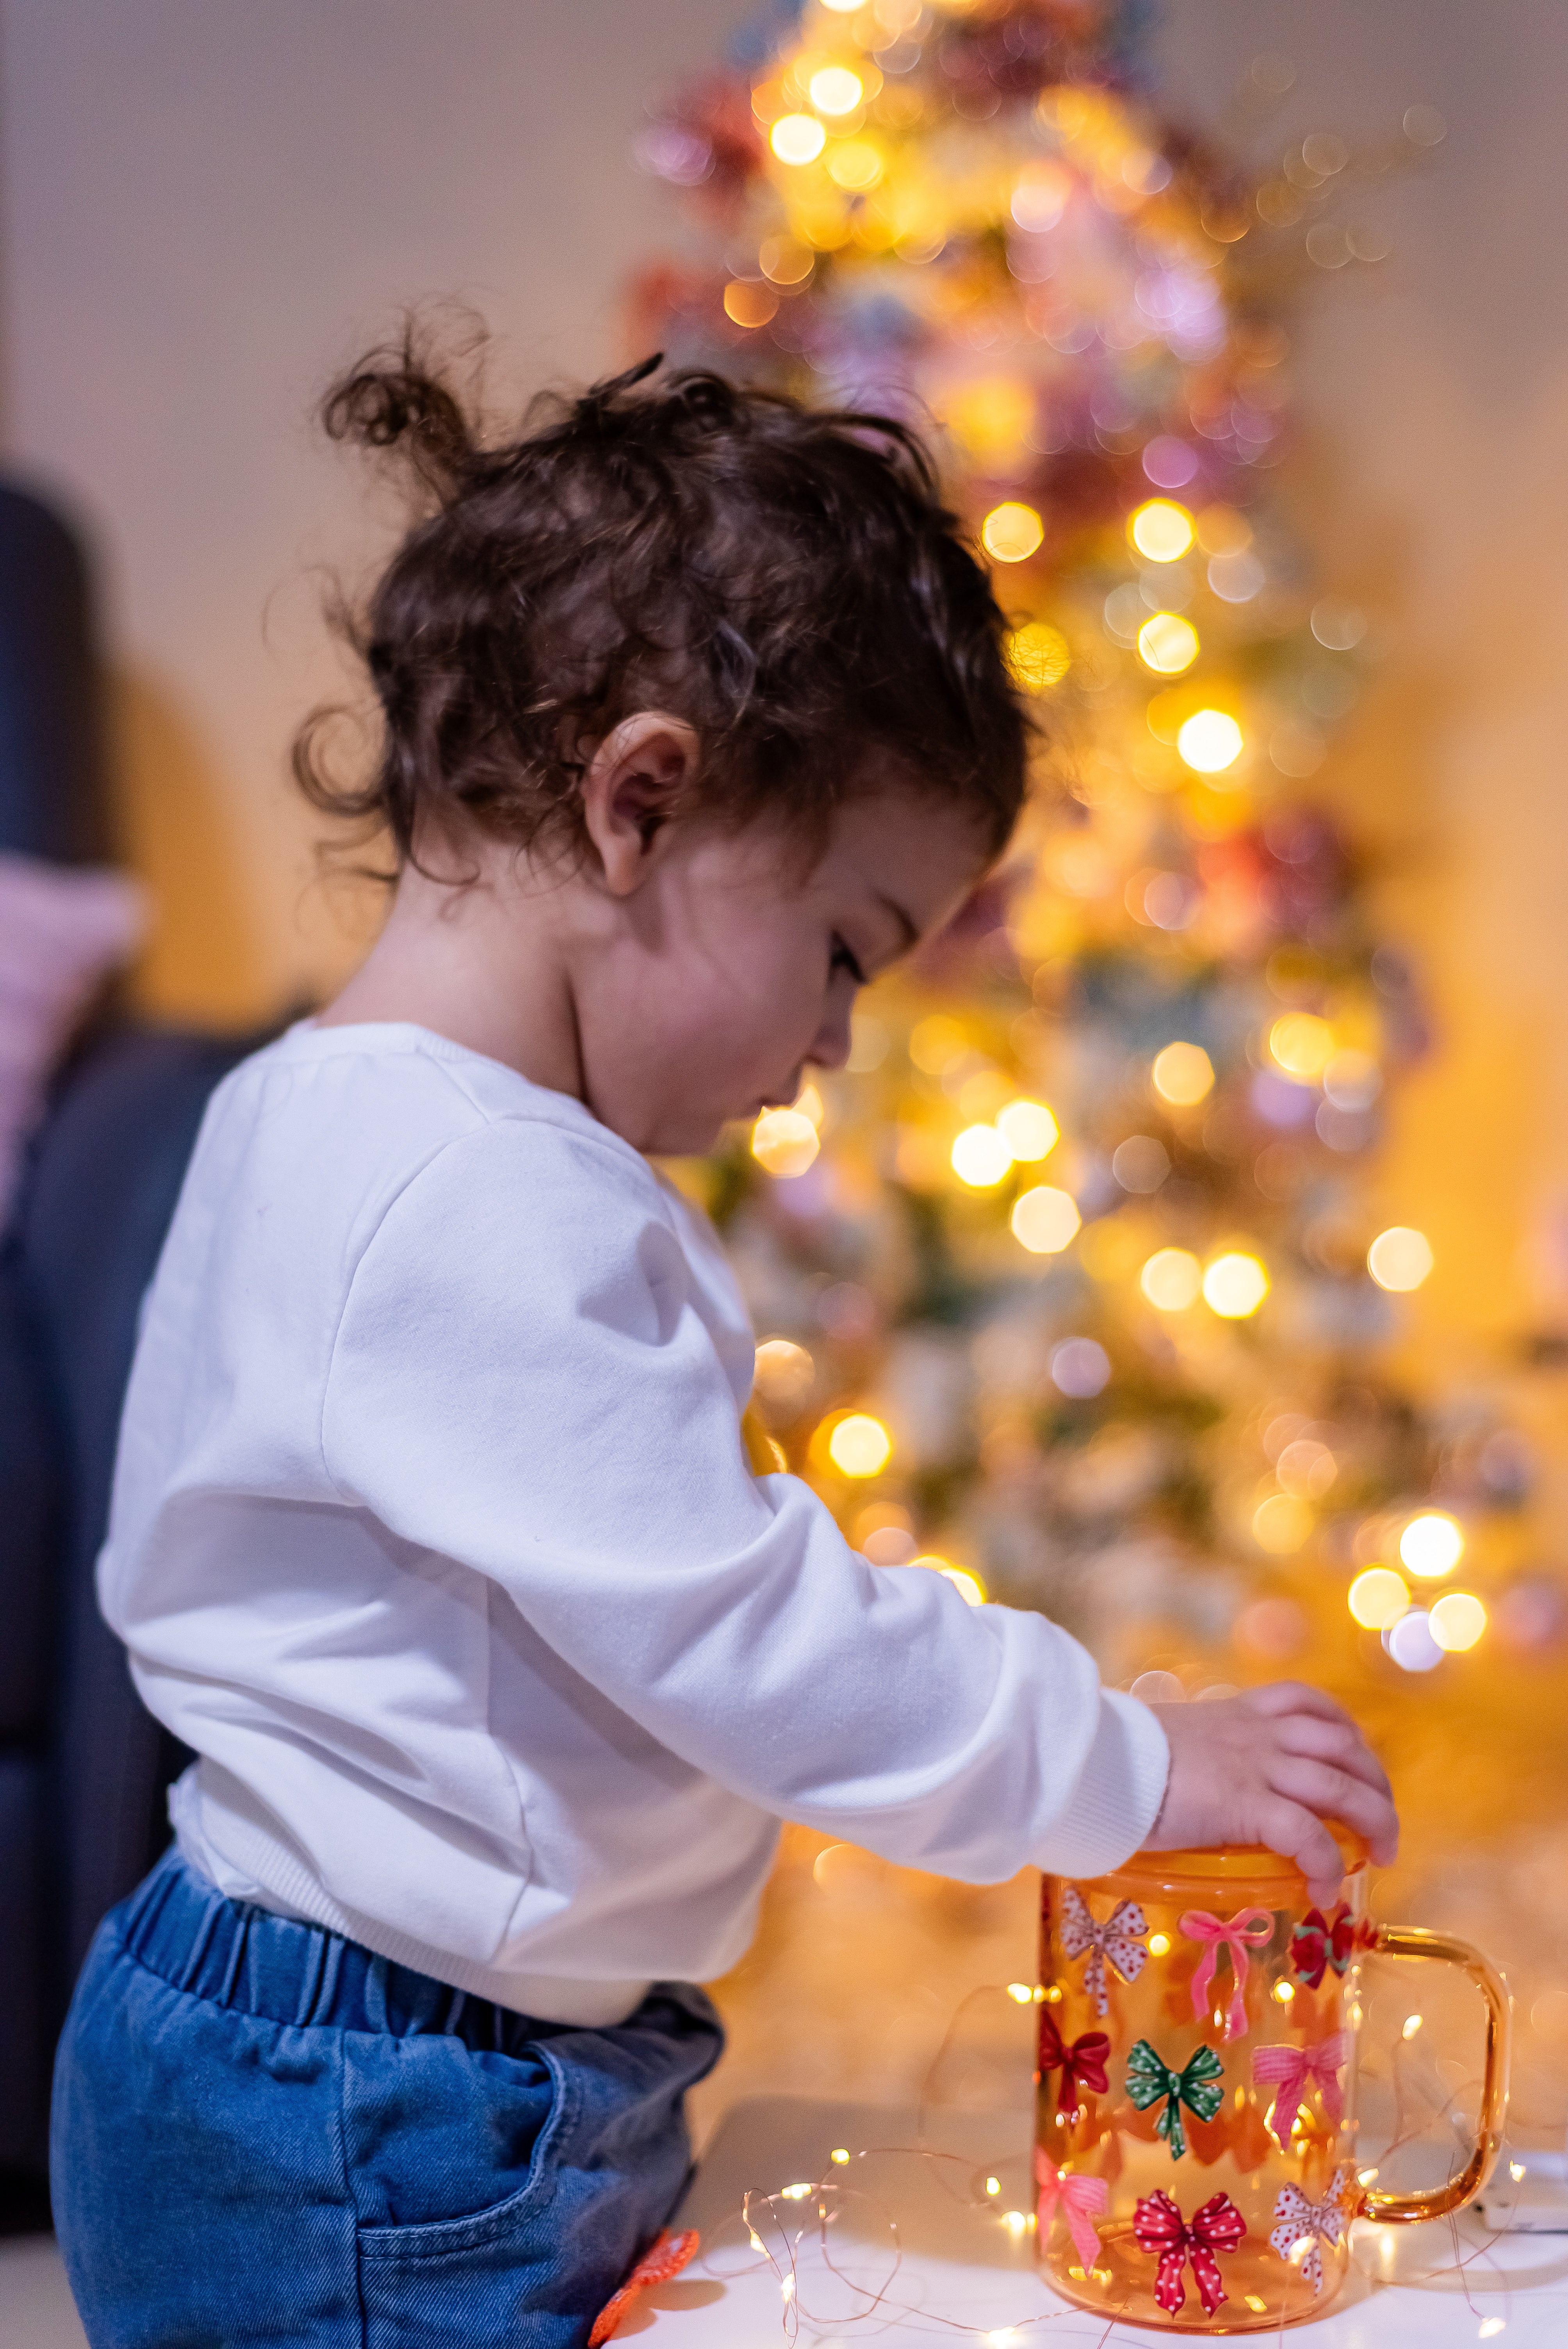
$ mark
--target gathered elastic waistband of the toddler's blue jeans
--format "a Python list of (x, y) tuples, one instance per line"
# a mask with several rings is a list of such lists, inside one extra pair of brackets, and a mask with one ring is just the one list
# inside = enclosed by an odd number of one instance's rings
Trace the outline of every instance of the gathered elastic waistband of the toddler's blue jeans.
[[(270, 2022), (385, 2032), (394, 2039), (441, 2032), (477, 2053), (498, 2055), (582, 2030), (577, 2022), (519, 2015), (469, 1990), (453, 1990), (413, 1966), (376, 1957), (331, 1926), (296, 1924), (293, 1917), (230, 1900), (176, 1849), (115, 1910), (110, 1929), (127, 1957), (171, 1990), (265, 2015)], [(716, 2027), (709, 1999), (688, 1983), (655, 1983), (634, 2015), (610, 2025), (676, 2037)]]

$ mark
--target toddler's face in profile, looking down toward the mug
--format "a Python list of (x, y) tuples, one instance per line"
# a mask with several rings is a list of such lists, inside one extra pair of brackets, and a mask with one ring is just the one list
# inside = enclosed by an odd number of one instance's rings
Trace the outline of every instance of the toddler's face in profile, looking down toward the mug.
[(810, 871), (772, 827), (671, 824), (575, 975), (589, 1109), (641, 1151), (714, 1146), (730, 1118), (838, 1069), (859, 987), (939, 928), (986, 869), (969, 815), (890, 780), (845, 806)]

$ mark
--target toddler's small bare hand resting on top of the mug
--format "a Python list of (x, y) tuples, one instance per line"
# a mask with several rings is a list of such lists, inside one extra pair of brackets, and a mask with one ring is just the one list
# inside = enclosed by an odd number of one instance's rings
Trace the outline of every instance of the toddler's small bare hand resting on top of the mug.
[(1383, 1764), (1322, 1689), (1277, 1680), (1202, 1705), (1153, 1705), (1171, 1743), (1148, 1851), (1265, 1844), (1296, 1860), (1312, 1898), (1333, 1900), (1345, 1875), (1322, 1825), (1366, 1837), (1380, 1867), (1399, 1849), (1399, 1816)]

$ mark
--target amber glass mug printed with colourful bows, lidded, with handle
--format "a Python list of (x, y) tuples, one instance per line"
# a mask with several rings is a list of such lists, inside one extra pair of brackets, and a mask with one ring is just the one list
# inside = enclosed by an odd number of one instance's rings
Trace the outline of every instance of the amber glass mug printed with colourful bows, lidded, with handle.
[[(1045, 1879), (1035, 2248), (1084, 2309), (1174, 2333), (1319, 2316), (1350, 2222), (1427, 2220), (1481, 2192), (1507, 2107), (1507, 1992), (1460, 1940), (1373, 1926), (1366, 1851), (1322, 1912), (1272, 1851), (1136, 1853)], [(1361, 1957), (1462, 1966), (1486, 1999), (1476, 2147), (1422, 2194), (1359, 2182)]]

